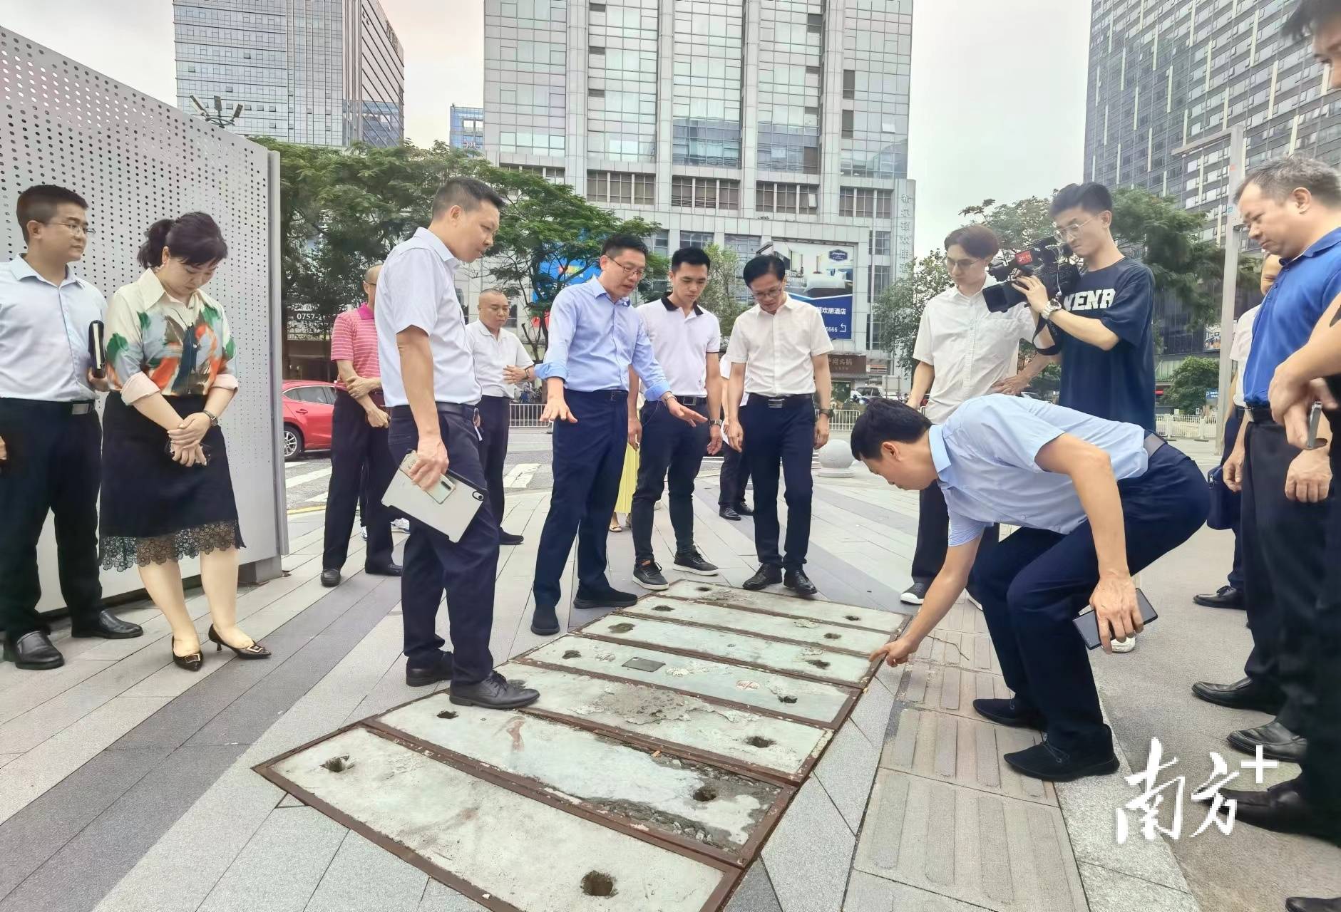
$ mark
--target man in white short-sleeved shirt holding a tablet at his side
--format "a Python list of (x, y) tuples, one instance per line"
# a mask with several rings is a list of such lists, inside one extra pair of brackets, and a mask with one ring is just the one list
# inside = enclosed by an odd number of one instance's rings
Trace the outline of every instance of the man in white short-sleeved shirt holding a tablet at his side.
[[(410, 480), (433, 490), (447, 473), (483, 491), (480, 384), (456, 299), (455, 270), (493, 244), (503, 197), (477, 180), (457, 177), (433, 197), (433, 221), (396, 245), (377, 280), (377, 343), (382, 394), (392, 416), (389, 445), (397, 464), (413, 453)], [(499, 526), (480, 510), (460, 539), (410, 519), (401, 575), (405, 683), (452, 681), (452, 703), (491, 709), (539, 697), (493, 671), (493, 578)], [(443, 652), (437, 606), (447, 591), (453, 652)]]

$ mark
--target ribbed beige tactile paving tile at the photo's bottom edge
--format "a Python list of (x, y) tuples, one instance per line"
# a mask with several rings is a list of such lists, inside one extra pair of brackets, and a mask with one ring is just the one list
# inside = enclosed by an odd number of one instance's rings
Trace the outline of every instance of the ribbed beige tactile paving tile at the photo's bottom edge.
[(881, 770), (857, 869), (996, 912), (1084, 912), (1055, 807)]

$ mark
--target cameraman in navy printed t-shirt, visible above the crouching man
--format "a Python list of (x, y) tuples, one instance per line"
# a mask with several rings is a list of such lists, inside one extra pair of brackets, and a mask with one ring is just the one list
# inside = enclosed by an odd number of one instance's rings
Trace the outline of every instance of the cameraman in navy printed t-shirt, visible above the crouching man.
[(1061, 303), (1034, 276), (1016, 282), (1045, 322), (1039, 351), (1062, 355), (1058, 405), (1155, 431), (1155, 276), (1113, 241), (1113, 197), (1101, 184), (1071, 184), (1053, 198), (1057, 240), (1086, 271)]

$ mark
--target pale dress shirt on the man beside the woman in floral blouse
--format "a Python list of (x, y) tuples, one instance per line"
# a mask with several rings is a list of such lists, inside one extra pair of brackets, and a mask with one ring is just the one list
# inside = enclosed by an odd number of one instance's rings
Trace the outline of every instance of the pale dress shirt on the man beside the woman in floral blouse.
[(0, 398), (93, 400), (89, 325), (106, 310), (102, 292), (68, 266), (58, 287), (21, 258), (0, 264)]

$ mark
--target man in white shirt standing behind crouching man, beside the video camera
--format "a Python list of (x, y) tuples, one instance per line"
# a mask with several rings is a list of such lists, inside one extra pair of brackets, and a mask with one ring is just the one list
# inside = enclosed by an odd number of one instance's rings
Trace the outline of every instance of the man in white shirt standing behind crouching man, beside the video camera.
[[(1019, 343), (1034, 338), (1037, 323), (1029, 304), (1021, 302), (1004, 312), (991, 312), (983, 298), (987, 264), (1000, 249), (987, 225), (967, 225), (945, 237), (945, 268), (953, 286), (927, 302), (913, 358), (913, 386), (908, 404), (919, 408), (931, 390), (924, 413), (932, 424), (944, 424), (960, 405), (988, 393), (1019, 396), (1050, 355), (1035, 355), (1016, 373)], [(913, 553), (912, 585), (900, 597), (921, 605), (931, 581), (940, 573), (948, 547), (949, 515), (945, 498), (935, 484), (923, 488), (917, 510), (917, 550)], [(995, 526), (983, 532), (982, 550), (996, 543)]]

